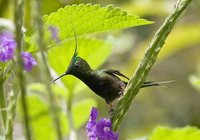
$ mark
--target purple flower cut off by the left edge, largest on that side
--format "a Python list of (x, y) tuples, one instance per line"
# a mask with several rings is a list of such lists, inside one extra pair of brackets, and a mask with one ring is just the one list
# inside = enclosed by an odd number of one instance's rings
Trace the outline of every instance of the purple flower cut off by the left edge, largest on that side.
[(10, 32), (0, 34), (0, 61), (6, 62), (14, 57), (17, 43)]

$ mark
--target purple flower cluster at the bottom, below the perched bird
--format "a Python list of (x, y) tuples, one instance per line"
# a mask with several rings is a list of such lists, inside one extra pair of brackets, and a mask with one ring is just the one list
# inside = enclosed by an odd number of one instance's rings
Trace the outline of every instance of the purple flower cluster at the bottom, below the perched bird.
[(90, 140), (118, 140), (118, 135), (112, 131), (111, 120), (101, 118), (98, 122), (98, 111), (92, 108), (90, 119), (86, 125), (86, 131)]

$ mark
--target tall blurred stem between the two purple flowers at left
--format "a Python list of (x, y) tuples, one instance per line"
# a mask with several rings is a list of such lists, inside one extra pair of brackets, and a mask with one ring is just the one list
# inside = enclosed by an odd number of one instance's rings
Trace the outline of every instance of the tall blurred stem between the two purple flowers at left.
[(25, 86), (25, 77), (23, 74), (23, 61), (21, 58), (23, 42), (23, 17), (24, 17), (24, 0), (15, 0), (15, 29), (16, 29), (16, 42), (17, 42), (17, 75), (19, 79), (19, 87), (21, 90), (21, 105), (23, 111), (23, 120), (24, 120), (24, 131), (26, 140), (31, 140), (31, 132), (28, 119), (28, 107), (26, 103), (26, 86)]

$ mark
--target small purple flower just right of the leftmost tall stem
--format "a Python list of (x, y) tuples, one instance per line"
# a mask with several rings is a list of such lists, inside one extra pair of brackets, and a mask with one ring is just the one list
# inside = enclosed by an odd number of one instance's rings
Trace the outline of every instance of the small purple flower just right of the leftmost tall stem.
[(37, 62), (29, 52), (22, 52), (21, 57), (23, 59), (24, 69), (26, 71), (31, 71), (33, 66), (37, 64)]

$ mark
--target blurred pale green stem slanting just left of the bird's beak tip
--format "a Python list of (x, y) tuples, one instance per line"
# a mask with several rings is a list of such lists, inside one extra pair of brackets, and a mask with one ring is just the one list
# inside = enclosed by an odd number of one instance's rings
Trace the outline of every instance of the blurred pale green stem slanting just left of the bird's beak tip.
[[(46, 44), (44, 42), (44, 31), (43, 31), (43, 21), (42, 21), (42, 14), (41, 14), (41, 0), (36, 0), (35, 1), (35, 8), (36, 8), (36, 13), (35, 13), (35, 21), (36, 21), (36, 28), (38, 30), (38, 46), (41, 52), (42, 56), (42, 63), (44, 64), (43, 67), (43, 73), (46, 73), (44, 76), (44, 83), (46, 83), (46, 88), (48, 91), (49, 95), (49, 103), (50, 103), (50, 109), (51, 109), (51, 115), (53, 117), (54, 125), (55, 125), (55, 130), (57, 134), (58, 140), (62, 140), (62, 132), (61, 132), (61, 127), (60, 127), (60, 120), (59, 120), (59, 115), (55, 103), (55, 97), (51, 89), (51, 85), (49, 84), (51, 79), (51, 74), (49, 67), (47, 65), (47, 60), (45, 57), (45, 48)], [(35, 9), (34, 9), (35, 10)]]

